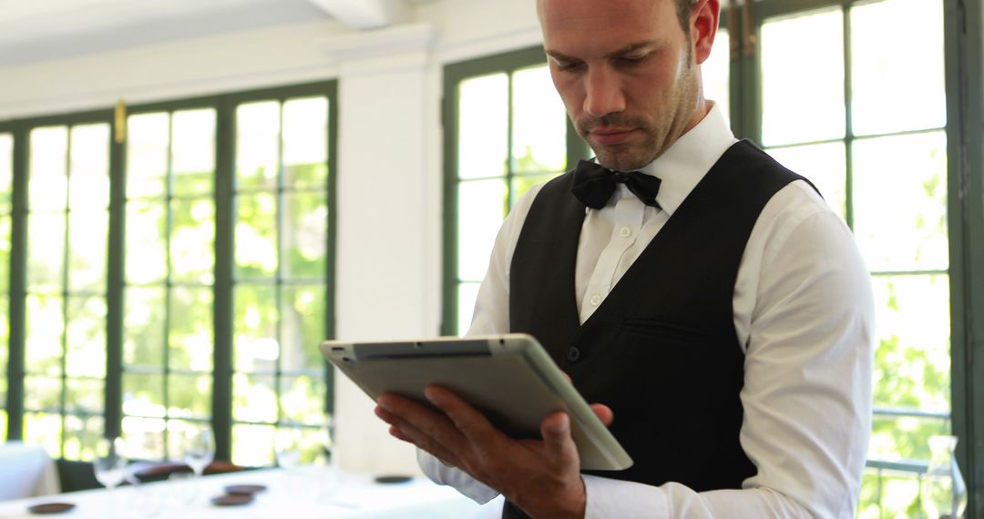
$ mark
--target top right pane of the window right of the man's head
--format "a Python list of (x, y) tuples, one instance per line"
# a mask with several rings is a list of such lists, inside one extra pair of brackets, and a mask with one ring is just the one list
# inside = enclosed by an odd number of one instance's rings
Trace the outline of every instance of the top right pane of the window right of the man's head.
[[(939, 0), (888, 0), (851, 9), (855, 134), (947, 124), (943, 25)], [(919, 36), (913, 37), (916, 27)]]

